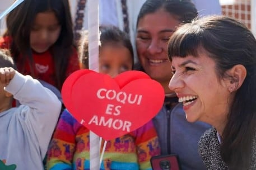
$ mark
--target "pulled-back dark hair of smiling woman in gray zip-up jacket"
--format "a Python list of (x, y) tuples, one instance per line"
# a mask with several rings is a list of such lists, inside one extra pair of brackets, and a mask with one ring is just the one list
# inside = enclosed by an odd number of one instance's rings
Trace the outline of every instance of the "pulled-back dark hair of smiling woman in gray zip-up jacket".
[(139, 11), (137, 26), (143, 16), (160, 9), (178, 17), (181, 23), (191, 22), (198, 15), (197, 8), (190, 0), (147, 0)]

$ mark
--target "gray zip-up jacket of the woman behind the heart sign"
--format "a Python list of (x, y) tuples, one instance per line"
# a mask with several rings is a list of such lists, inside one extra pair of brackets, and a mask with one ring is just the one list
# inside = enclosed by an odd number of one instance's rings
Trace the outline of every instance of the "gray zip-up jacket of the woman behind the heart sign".
[(190, 123), (185, 117), (183, 105), (171, 109), (163, 106), (153, 118), (159, 136), (161, 154), (176, 153), (182, 170), (206, 169), (198, 153), (198, 141), (211, 126), (203, 122)]

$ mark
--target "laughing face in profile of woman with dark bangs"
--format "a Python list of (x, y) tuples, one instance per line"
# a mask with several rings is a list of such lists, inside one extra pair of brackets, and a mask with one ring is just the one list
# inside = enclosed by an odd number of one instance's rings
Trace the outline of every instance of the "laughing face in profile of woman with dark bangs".
[(213, 126), (214, 122), (220, 125), (225, 123), (224, 117), (227, 115), (224, 113), (227, 108), (224, 106), (228, 106), (227, 96), (230, 92), (221, 87), (215, 68), (214, 60), (204, 54), (199, 54), (199, 57), (188, 55), (185, 58), (173, 58), (175, 74), (169, 87), (176, 92), (179, 102), (183, 102), (189, 122), (201, 120)]

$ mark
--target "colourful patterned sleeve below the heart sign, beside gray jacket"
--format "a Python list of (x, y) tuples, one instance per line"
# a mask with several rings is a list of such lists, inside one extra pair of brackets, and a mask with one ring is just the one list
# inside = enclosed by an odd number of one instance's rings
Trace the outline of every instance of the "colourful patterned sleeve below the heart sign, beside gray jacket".
[(153, 155), (160, 155), (159, 140), (153, 122), (147, 122), (147, 124), (137, 129), (136, 133), (135, 144), (137, 148), (139, 169), (152, 169), (150, 158)]

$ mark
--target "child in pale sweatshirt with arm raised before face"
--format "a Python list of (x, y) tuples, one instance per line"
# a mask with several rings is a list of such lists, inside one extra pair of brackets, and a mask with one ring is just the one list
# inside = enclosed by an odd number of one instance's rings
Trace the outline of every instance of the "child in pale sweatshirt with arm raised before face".
[[(43, 169), (61, 103), (38, 80), (13, 68), (11, 56), (0, 50), (1, 169)], [(13, 97), (20, 107), (12, 108)]]

